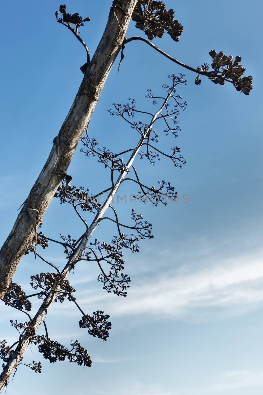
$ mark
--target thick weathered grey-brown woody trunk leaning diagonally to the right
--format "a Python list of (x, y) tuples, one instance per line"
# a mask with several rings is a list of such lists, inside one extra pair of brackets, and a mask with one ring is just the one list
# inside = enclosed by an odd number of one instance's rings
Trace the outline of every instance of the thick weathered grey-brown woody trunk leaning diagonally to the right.
[(121, 6), (113, 6), (110, 9), (101, 41), (56, 139), (58, 149), (56, 145), (53, 146), (11, 233), (0, 250), (0, 299), (6, 293), (17, 266), (34, 237), (34, 228), (27, 209), (38, 211), (37, 225), (39, 225), (69, 167), (83, 130), (89, 123), (108, 73), (125, 38), (136, 2), (137, 0), (122, 0)]

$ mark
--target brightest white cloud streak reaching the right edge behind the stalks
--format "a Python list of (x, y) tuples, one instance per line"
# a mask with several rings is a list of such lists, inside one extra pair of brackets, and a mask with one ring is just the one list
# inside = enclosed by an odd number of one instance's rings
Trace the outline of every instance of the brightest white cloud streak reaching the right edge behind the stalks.
[(188, 267), (144, 278), (127, 298), (100, 290), (82, 293), (82, 305), (103, 308), (111, 316), (149, 314), (154, 318), (219, 318), (251, 311), (263, 304), (261, 256), (221, 260), (211, 267)]

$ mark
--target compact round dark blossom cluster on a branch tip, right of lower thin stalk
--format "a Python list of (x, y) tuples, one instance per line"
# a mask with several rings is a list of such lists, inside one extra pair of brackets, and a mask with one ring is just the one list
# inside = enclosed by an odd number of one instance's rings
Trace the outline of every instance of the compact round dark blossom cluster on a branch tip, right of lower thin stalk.
[(109, 337), (108, 331), (111, 329), (112, 324), (108, 322), (110, 316), (108, 314), (104, 315), (104, 311), (93, 312), (93, 316), (83, 316), (82, 320), (79, 322), (80, 328), (88, 328), (88, 333), (93, 337), (98, 337), (99, 339), (107, 340)]

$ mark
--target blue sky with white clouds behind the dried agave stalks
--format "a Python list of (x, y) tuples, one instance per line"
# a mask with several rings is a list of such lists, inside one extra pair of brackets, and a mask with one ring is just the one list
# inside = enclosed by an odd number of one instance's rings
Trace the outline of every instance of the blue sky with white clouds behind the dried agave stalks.
[[(28, 395), (50, 391), (105, 395), (254, 395), (262, 393), (262, 5), (223, 0), (214, 4), (166, 0), (184, 31), (179, 43), (170, 36), (153, 42), (175, 58), (196, 67), (210, 63), (209, 51), (224, 51), (242, 57), (246, 75), (254, 76), (250, 96), (239, 94), (230, 84), (221, 87), (195, 75), (142, 42), (125, 46), (119, 73), (112, 68), (93, 113), (89, 133), (100, 146), (112, 150), (127, 147), (133, 137), (121, 120), (110, 117), (112, 102), (134, 98), (137, 108), (151, 108), (144, 95), (156, 94), (167, 75), (185, 72), (187, 86), (178, 93), (188, 103), (178, 116), (182, 131), (176, 140), (187, 160), (175, 169), (166, 160), (150, 167), (136, 161), (142, 179), (154, 185), (166, 179), (179, 197), (189, 203), (151, 207), (139, 202), (116, 204), (123, 220), (134, 207), (153, 224), (153, 240), (142, 241), (140, 252), (125, 251), (131, 288), (126, 299), (108, 294), (96, 281), (95, 266), (79, 264), (69, 277), (76, 297), (88, 313), (110, 314), (112, 329), (106, 342), (93, 339), (78, 328), (81, 318), (70, 303), (54, 304), (46, 319), (50, 338), (69, 344), (78, 339), (87, 348), (91, 368), (59, 362), (51, 365), (32, 348), (24, 361), (43, 361), (41, 376), (19, 367), (7, 394), (18, 390)], [(2, 4), (7, 36), (1, 36), (1, 241), (6, 239), (17, 208), (30, 188), (52, 147), (53, 138), (71, 107), (82, 81), (79, 67), (86, 61), (78, 41), (56, 23), (59, 3), (39, 7), (31, 0), (19, 9)], [(111, 1), (67, 2), (69, 12), (91, 17), (80, 36), (95, 51), (106, 24)], [(11, 17), (13, 19), (11, 19)], [(12, 20), (11, 24), (9, 22)], [(127, 37), (140, 35), (131, 21)], [(160, 140), (165, 139), (160, 126)], [(81, 145), (80, 147), (81, 148)], [(103, 189), (106, 174), (92, 158), (76, 150), (69, 167), (75, 185)], [(108, 185), (108, 183), (107, 183)], [(130, 189), (123, 193), (134, 193)], [(51, 238), (60, 233), (80, 235), (82, 225), (71, 213), (52, 201), (43, 219), (43, 232)], [(103, 224), (106, 221), (103, 221)], [(94, 237), (110, 241), (114, 228), (103, 224)], [(77, 237), (76, 237), (77, 238)], [(58, 246), (42, 255), (63, 267)], [(30, 275), (48, 271), (34, 256), (25, 256), (15, 281), (30, 292)], [(35, 308), (37, 307), (37, 301)], [(10, 319), (24, 320), (19, 312), (0, 305), (0, 339), (11, 344), (16, 333)], [(12, 331), (13, 329), (13, 331)], [(39, 328), (42, 329), (41, 327)]]

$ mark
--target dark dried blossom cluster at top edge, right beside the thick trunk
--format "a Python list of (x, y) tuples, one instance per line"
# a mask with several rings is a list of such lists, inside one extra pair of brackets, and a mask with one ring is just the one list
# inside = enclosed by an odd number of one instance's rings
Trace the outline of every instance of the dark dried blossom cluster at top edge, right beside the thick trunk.
[(154, 37), (161, 38), (166, 30), (174, 41), (179, 41), (183, 32), (183, 26), (174, 19), (173, 9), (167, 10), (161, 1), (138, 2), (132, 13), (132, 20), (136, 22), (136, 28), (143, 30), (149, 40)]

